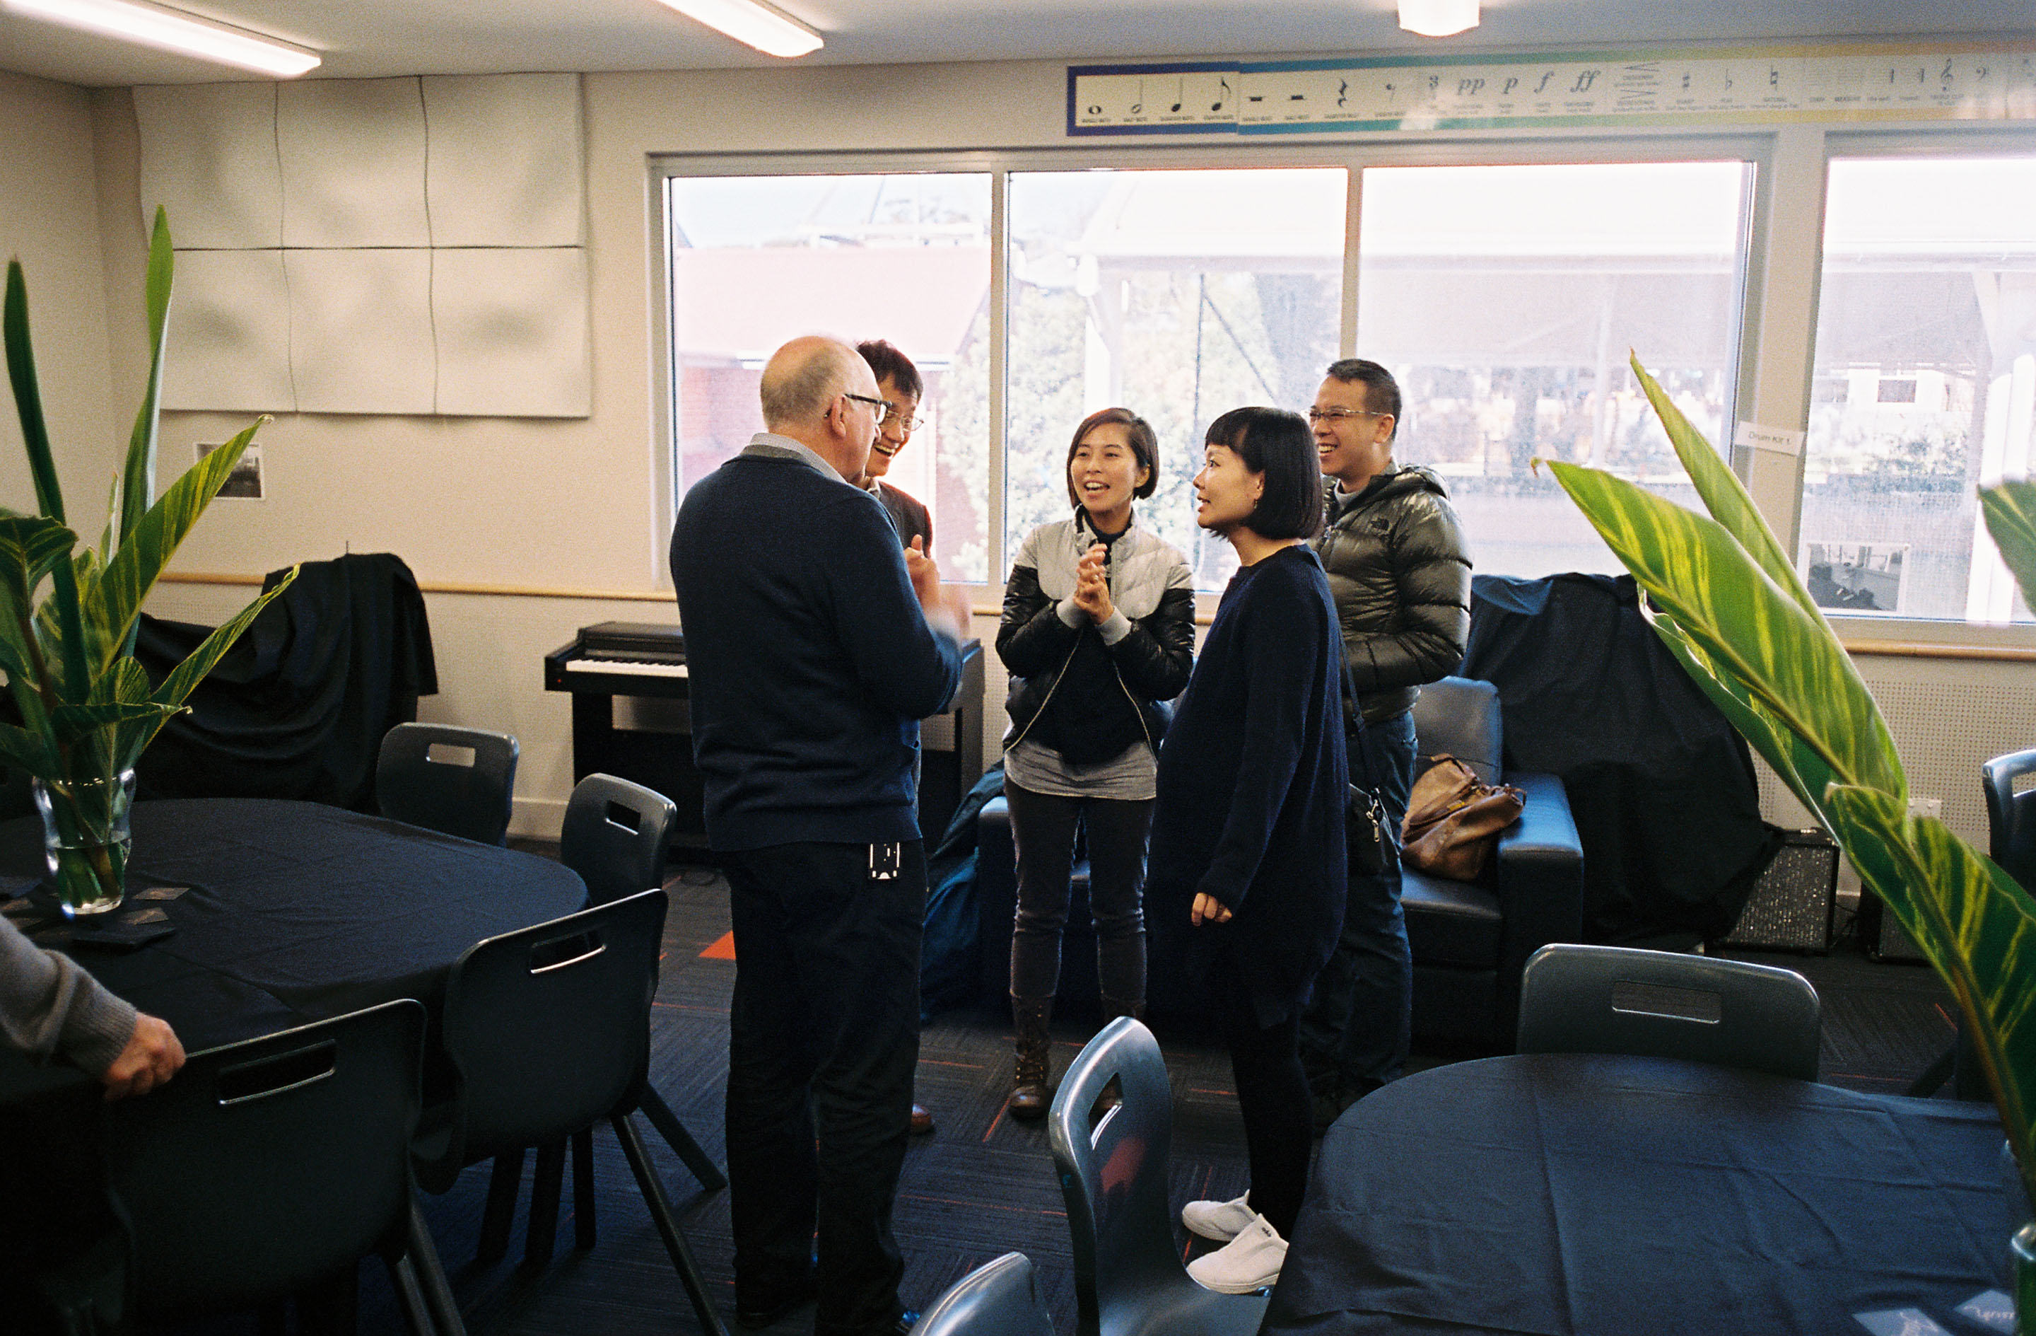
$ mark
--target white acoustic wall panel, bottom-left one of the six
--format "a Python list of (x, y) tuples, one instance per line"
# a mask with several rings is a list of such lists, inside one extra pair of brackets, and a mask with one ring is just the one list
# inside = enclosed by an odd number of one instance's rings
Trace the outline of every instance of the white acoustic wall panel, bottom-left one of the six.
[(169, 346), (163, 407), (295, 411), (283, 253), (179, 250)]

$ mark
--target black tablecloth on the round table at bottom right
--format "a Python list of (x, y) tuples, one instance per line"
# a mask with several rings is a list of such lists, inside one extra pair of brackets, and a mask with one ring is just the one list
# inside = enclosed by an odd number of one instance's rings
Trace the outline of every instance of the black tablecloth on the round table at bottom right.
[(1698, 1063), (1454, 1063), (1321, 1143), (1264, 1332), (1828, 1332), (2003, 1281), (1991, 1106)]

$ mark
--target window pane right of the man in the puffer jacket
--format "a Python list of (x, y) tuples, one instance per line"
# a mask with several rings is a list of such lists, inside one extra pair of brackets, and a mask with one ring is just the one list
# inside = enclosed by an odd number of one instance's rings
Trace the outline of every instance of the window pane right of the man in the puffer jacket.
[(1478, 570), (1621, 570), (1535, 458), (1694, 503), (1627, 350), (1722, 444), (1745, 187), (1743, 163), (1364, 173), (1358, 352), (1399, 379), (1395, 458), (1444, 475)]

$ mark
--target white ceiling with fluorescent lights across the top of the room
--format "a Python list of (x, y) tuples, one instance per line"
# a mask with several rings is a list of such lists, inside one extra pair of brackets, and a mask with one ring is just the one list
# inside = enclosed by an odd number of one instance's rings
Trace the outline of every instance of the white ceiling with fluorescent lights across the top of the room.
[[(1454, 53), (1606, 43), (2036, 37), (2030, 0), (1484, 0), (1484, 24), (1429, 41), (1395, 0), (778, 0), (827, 37), (798, 63)], [(774, 65), (656, 0), (179, 0), (324, 53), (312, 77)], [(0, 69), (79, 86), (254, 75), (0, 12)]]

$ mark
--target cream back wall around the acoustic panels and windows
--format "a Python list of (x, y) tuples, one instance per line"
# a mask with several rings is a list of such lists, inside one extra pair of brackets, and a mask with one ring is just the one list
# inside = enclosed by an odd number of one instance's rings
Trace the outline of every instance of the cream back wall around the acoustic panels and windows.
[[(8, 96), (8, 86), (0, 86), (0, 100)], [(71, 108), (65, 124), (81, 138), (75, 122), (83, 94), (51, 90), (47, 98)], [(393, 550), (426, 582), (599, 593), (660, 589), (668, 538), (668, 499), (660, 487), (668, 458), (656, 428), (660, 367), (652, 250), (658, 230), (647, 157), (747, 155), (753, 161), (772, 153), (1067, 149), (1063, 110), (1063, 63), (586, 75), (592, 415), (580, 422), (281, 418), (263, 432), (273, 499), (222, 503), (185, 546), (179, 568), (254, 574), (350, 548)], [(26, 116), (0, 104), (0, 128)], [(92, 132), (108, 285), (132, 293), (143, 255), (132, 100), (122, 92), (96, 94)], [(79, 151), (90, 161), (94, 147), (88, 143)], [(1093, 141), (1081, 151), (1093, 153)], [(1211, 149), (1112, 145), (1112, 153), (1205, 155)], [(1784, 130), (1769, 161), (1794, 183), (1775, 208), (1790, 222), (1786, 240), (1800, 248), (1802, 228), (1814, 226), (1804, 218), (1802, 200), (1822, 177), (1822, 130)], [(45, 220), (45, 230), (59, 234), (65, 228)], [(1788, 253), (1790, 244), (1777, 250)], [(1759, 330), (1749, 367), (1751, 409), (1773, 426), (1786, 424), (1790, 403), (1800, 411), (1806, 375), (1810, 303), (1788, 287), (1790, 281), (1767, 277), (1771, 318)], [(116, 316), (114, 330), (116, 403), (132, 403), (143, 371), (140, 326)], [(79, 360), (90, 363), (90, 352)], [(220, 440), (238, 426), (242, 422), (228, 415), (167, 413), (165, 472), (169, 460), (189, 458), (191, 442)], [(1792, 505), (1792, 477), (1757, 472), (1755, 487), (1777, 509)], [(1782, 532), (1792, 530), (1790, 513), (1773, 519)], [(208, 621), (238, 607), (246, 593), (169, 587), (151, 607)], [(989, 613), (977, 619), (985, 642), (994, 635), (996, 595), (989, 589), (977, 599)], [(584, 623), (676, 613), (656, 603), (483, 595), (432, 595), (430, 613), (442, 694), (423, 703), (423, 717), (513, 729), (523, 743), (517, 829), (556, 831), (572, 782), (570, 709), (566, 697), (542, 690), (540, 658)], [(1902, 682), (1910, 694), (1938, 692), (1946, 709), (1973, 699), (1975, 686), (1985, 686), (1993, 699), (2028, 694), (2014, 690), (2028, 674), (2018, 664), (1879, 662), (1885, 670), (1869, 674), (1877, 688), (1887, 680)], [(994, 662), (985, 676), (985, 733), (994, 752), (1004, 682)], [(1969, 747), (1946, 747), (1926, 715), (1910, 717), (1914, 725), (1898, 719), (1896, 727), (1918, 770), (1916, 788), (1950, 798), (1957, 786), (1971, 790), (1977, 804)], [(2022, 745), (2036, 733), (2036, 715), (1991, 723), (2001, 739), (1997, 749)], [(1977, 809), (1946, 800), (1946, 819), (1983, 839), (1983, 821), (1973, 829), (1971, 811)]]

